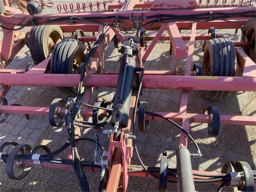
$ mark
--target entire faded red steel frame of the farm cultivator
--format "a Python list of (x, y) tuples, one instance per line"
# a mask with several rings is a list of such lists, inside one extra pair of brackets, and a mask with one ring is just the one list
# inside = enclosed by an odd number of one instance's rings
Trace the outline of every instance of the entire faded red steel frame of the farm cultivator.
[[(164, 0), (163, 0), (164, 1)], [(194, 2), (194, 1), (191, 1)], [(250, 2), (250, 1), (248, 1)], [(159, 1), (159, 4), (161, 1)], [(125, 3), (110, 3), (109, 9), (123, 9)], [(139, 2), (132, 1), (128, 6), (127, 10), (132, 10), (132, 8), (150, 8), (152, 2)], [(240, 4), (241, 5), (241, 4)], [(176, 10), (140, 10), (140, 11), (122, 11), (122, 12), (80, 12), (72, 13), (73, 16), (77, 17), (97, 17), (97, 16), (124, 16), (124, 17), (141, 17), (155, 15), (156, 13), (166, 13), (173, 15), (189, 15), (193, 13), (205, 13), (205, 12), (221, 12), (221, 13), (240, 13), (246, 11), (255, 11), (255, 7), (249, 6), (202, 6), (201, 8), (193, 9), (181, 9), (178, 12)], [(16, 15), (4, 16), (1, 15), (1, 25), (13, 28), (12, 24), (25, 24), (28, 20), (32, 19), (33, 16), (20, 14), (18, 12), (6, 7), (7, 10), (12, 11)], [(54, 17), (65, 17), (70, 16), (70, 13), (62, 13), (59, 15), (37, 15), (37, 18), (54, 18)], [(248, 46), (246, 43), (236, 43), (236, 55), (237, 55), (237, 73), (238, 70), (243, 70), (243, 76), (237, 77), (226, 77), (226, 76), (194, 76), (191, 72), (192, 67), (192, 57), (194, 51), (195, 40), (207, 40), (208, 36), (203, 34), (196, 34), (196, 29), (208, 29), (209, 27), (215, 27), (216, 29), (224, 28), (241, 28), (248, 19), (255, 18), (255, 13), (251, 14), (250, 17), (244, 18), (230, 18), (229, 21), (210, 21), (210, 22), (170, 22), (170, 23), (156, 23), (149, 27), (148, 30), (157, 30), (156, 35), (146, 35), (146, 40), (152, 40), (151, 44), (146, 47), (140, 47), (138, 54), (138, 66), (142, 67), (144, 62), (147, 60), (149, 54), (153, 50), (154, 46), (159, 40), (170, 40), (173, 47), (173, 52), (175, 55), (175, 66), (177, 69), (177, 58), (187, 57), (187, 64), (185, 72), (181, 75), (176, 75), (176, 72), (152, 70), (145, 71), (143, 88), (145, 89), (181, 89), (182, 96), (180, 100), (180, 111), (178, 113), (166, 113), (166, 112), (155, 112), (161, 114), (167, 118), (172, 119), (176, 122), (182, 122), (182, 127), (189, 131), (189, 124), (192, 122), (196, 123), (211, 123), (209, 115), (205, 114), (190, 114), (187, 113), (188, 104), (188, 90), (223, 90), (223, 91), (256, 91), (256, 64), (244, 53), (241, 46)], [(146, 23), (152, 19), (144, 19), (143, 22)], [(104, 22), (112, 24), (116, 19), (108, 20), (97, 20), (99, 22)], [(142, 20), (140, 19), (142, 22)], [(239, 22), (234, 22), (239, 21)], [(37, 21), (38, 24), (44, 24), (44, 21)], [(124, 20), (128, 26), (133, 26), (133, 20)], [(57, 24), (57, 23), (56, 23)], [(70, 25), (70, 23), (63, 22), (59, 25), (63, 32), (74, 32), (76, 29), (82, 29), (85, 32), (98, 32), (102, 29), (102, 26), (97, 24), (88, 24), (86, 22), (76, 22), (75, 25)], [(147, 28), (147, 27), (146, 27)], [(191, 33), (188, 35), (180, 34), (180, 29), (189, 29)], [(167, 30), (168, 34), (163, 35), (163, 32)], [(0, 44), (1, 47), (7, 47), (6, 49), (1, 49), (1, 58), (6, 64), (8, 64), (12, 57), (15, 56), (20, 49), (24, 46), (24, 39), (21, 36), (20, 39), (14, 40), (14, 32), (3, 29), (4, 39)], [(89, 103), (91, 100), (93, 87), (116, 87), (118, 71), (105, 71), (103, 56), (104, 50), (107, 44), (112, 40), (114, 35), (117, 35), (121, 42), (124, 42), (124, 36), (120, 34), (116, 28), (112, 27), (106, 33), (105, 41), (100, 44), (97, 51), (92, 57), (92, 66), (90, 73), (84, 77), (84, 86), (90, 87), (87, 89), (84, 96), (84, 102)], [(216, 37), (222, 37), (222, 34), (216, 34)], [(98, 36), (84, 36), (81, 41), (96, 41)], [(189, 41), (188, 54), (186, 54), (186, 47), (183, 40)], [(51, 58), (47, 58), (43, 62), (36, 65), (36, 67), (30, 69), (28, 72), (20, 69), (3, 69), (0, 70), (0, 84), (3, 85), (0, 89), (0, 96), (4, 97), (12, 85), (28, 85), (28, 86), (77, 86), (80, 80), (80, 75), (61, 75), (61, 74), (45, 74), (46, 69), (49, 69)], [(35, 78), (36, 77), (36, 78)], [(123, 175), (123, 190), (126, 191), (128, 184), (128, 176), (140, 176), (140, 177), (151, 177), (146, 172), (139, 173), (127, 173), (127, 167), (132, 166), (130, 160), (132, 157), (132, 141), (128, 142), (124, 140), (124, 134), (130, 133), (132, 113), (135, 107), (136, 92), (133, 92), (131, 99), (131, 110), (130, 119), (128, 122), (128, 127), (122, 130), (121, 140), (119, 142), (113, 140), (113, 135), (110, 138), (109, 146), (109, 180), (107, 185), (107, 191), (117, 191), (119, 185), (119, 180), (121, 174)], [(1, 106), (1, 113), (16, 113), (16, 114), (36, 114), (36, 115), (48, 115), (48, 107), (25, 107), (25, 106)], [(64, 110), (64, 109), (63, 109)], [(62, 111), (63, 111), (62, 110)], [(105, 113), (103, 111), (103, 113)], [(84, 117), (92, 116), (92, 109), (84, 108)], [(148, 120), (162, 120), (159, 117), (146, 116)], [(220, 115), (221, 124), (236, 124), (236, 125), (256, 125), (255, 116), (233, 116), (233, 115)], [(78, 134), (80, 136), (80, 132)], [(184, 137), (184, 133), (181, 132), (180, 135), (180, 145), (186, 147), (188, 144), (187, 137)], [(71, 153), (69, 150), (68, 158), (71, 158)], [(32, 162), (23, 162), (23, 164), (33, 165)], [(50, 163), (42, 163), (44, 167), (50, 168), (61, 168), (61, 169), (72, 169), (69, 165), (57, 165)], [(84, 167), (85, 171), (91, 171), (91, 167)], [(123, 170), (123, 171), (122, 171)], [(95, 168), (95, 172), (100, 170)], [(194, 171), (199, 172), (199, 171)], [(209, 173), (209, 172), (201, 172)], [(220, 174), (216, 172), (211, 172), (211, 174)], [(195, 176), (195, 179), (202, 177)], [(217, 183), (215, 183), (217, 184)]]

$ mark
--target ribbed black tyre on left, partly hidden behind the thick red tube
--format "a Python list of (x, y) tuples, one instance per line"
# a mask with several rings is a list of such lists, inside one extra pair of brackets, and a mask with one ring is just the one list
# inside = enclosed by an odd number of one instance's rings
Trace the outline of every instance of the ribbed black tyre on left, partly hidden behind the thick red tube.
[[(75, 39), (61, 41), (52, 52), (51, 73), (78, 74), (79, 65), (85, 61), (86, 55), (87, 50), (82, 42)], [(67, 95), (76, 95), (78, 91), (77, 87), (57, 87), (57, 89)]]

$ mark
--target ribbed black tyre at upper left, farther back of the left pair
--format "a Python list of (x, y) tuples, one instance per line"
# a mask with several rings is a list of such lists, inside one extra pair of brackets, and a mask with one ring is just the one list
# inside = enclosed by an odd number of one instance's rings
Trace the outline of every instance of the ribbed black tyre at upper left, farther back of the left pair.
[(33, 27), (28, 38), (28, 46), (32, 59), (40, 63), (52, 54), (54, 46), (62, 41), (63, 32), (56, 25)]

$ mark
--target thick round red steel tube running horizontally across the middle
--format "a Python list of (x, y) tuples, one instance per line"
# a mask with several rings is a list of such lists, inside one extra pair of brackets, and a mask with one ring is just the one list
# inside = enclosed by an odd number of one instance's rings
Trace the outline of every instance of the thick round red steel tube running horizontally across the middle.
[[(1, 85), (23, 86), (76, 86), (80, 75), (62, 74), (7, 74), (1, 73)], [(118, 75), (92, 74), (84, 77), (86, 87), (116, 87)], [(22, 81), (21, 81), (22, 79)], [(202, 83), (202, 79), (205, 81)], [(32, 81), (33, 80), (33, 81)], [(216, 91), (256, 91), (256, 78), (225, 77), (225, 76), (171, 76), (145, 75), (143, 88), (145, 89), (188, 89), (188, 90), (216, 90)]]

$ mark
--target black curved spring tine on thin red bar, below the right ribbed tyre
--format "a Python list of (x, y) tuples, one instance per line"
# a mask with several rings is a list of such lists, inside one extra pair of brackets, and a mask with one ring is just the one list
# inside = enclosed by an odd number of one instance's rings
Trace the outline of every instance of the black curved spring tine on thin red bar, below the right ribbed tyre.
[(208, 124), (209, 137), (217, 137), (220, 132), (220, 111), (217, 106), (207, 108), (208, 115), (211, 117), (211, 123)]

